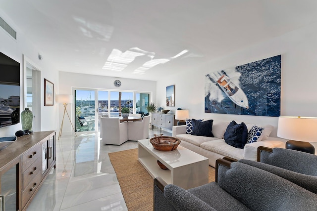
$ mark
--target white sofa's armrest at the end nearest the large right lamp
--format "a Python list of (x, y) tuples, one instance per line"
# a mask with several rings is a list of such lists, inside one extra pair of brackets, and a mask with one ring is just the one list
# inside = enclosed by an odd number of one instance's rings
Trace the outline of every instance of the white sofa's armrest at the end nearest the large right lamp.
[(244, 159), (257, 161), (258, 159), (258, 147), (264, 146), (269, 148), (285, 148), (286, 139), (268, 137), (264, 141), (253, 142), (244, 146)]

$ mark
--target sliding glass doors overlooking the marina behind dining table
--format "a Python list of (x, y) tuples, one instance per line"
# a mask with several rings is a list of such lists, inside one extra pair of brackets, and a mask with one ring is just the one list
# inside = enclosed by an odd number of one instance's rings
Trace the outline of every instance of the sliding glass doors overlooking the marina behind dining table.
[(74, 89), (75, 130), (100, 130), (99, 116), (119, 117), (121, 108), (127, 107), (130, 113), (149, 113), (150, 93), (133, 91), (112, 91), (101, 89)]

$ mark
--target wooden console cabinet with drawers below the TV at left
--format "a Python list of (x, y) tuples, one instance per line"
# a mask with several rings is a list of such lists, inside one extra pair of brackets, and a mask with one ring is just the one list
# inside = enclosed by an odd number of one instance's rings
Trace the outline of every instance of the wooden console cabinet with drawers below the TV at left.
[(24, 135), (1, 150), (0, 210), (26, 210), (55, 162), (55, 131)]

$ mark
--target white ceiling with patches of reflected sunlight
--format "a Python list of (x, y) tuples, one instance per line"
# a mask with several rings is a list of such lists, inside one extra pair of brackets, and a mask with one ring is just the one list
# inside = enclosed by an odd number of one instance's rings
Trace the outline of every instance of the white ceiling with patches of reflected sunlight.
[(0, 0), (0, 8), (59, 71), (144, 80), (317, 21), (317, 0)]

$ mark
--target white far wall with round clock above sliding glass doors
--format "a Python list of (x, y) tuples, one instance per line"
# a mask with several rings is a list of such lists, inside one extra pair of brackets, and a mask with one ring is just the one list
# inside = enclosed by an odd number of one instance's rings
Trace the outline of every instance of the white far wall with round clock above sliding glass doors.
[[(88, 71), (89, 72), (89, 71)], [(121, 86), (113, 85), (115, 80), (121, 81)], [(77, 74), (69, 72), (59, 72), (59, 94), (73, 94), (72, 88), (94, 88), (94, 89), (109, 89), (109, 90), (125, 90), (125, 91), (140, 91), (150, 92), (150, 102), (157, 98), (156, 88), (157, 83), (154, 81), (144, 81), (135, 79), (123, 79), (106, 76), (95, 76), (86, 74)], [(59, 105), (59, 121), (61, 123), (63, 115), (63, 105)], [(67, 112), (71, 115), (73, 121), (73, 106), (67, 106)], [(59, 124), (60, 124), (59, 123)], [(69, 121), (64, 121), (63, 133), (72, 131)]]

